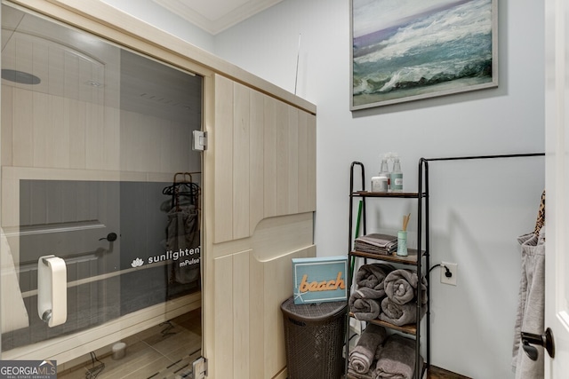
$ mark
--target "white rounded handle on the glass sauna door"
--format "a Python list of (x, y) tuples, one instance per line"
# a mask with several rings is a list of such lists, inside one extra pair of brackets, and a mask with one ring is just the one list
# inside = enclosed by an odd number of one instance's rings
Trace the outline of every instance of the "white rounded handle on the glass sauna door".
[(68, 271), (60, 257), (37, 260), (37, 314), (50, 328), (68, 320)]

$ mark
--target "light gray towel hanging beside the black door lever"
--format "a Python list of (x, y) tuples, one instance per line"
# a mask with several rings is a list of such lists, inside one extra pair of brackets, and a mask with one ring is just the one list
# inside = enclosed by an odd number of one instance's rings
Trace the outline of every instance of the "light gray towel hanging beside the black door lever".
[(540, 227), (539, 236), (524, 234), (517, 238), (521, 245), (522, 277), (519, 285), (516, 326), (514, 328), (514, 347), (512, 367), (516, 379), (539, 379), (544, 375), (541, 346), (538, 359), (529, 359), (521, 347), (522, 331), (541, 335), (545, 318), (545, 228)]

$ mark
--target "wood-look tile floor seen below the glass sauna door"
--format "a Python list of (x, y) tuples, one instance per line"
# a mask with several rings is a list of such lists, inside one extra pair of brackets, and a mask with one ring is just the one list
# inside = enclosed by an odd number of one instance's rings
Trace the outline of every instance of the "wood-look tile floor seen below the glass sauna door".
[[(189, 379), (192, 362), (201, 355), (201, 309), (188, 312), (169, 324), (161, 324), (125, 338), (126, 354), (85, 357), (84, 365), (58, 373), (58, 379)], [(100, 370), (101, 365), (104, 368)]]

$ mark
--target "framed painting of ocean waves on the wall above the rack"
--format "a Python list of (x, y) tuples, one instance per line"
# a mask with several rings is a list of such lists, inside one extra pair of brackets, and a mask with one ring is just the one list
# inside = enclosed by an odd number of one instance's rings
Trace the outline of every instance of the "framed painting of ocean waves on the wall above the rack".
[(497, 0), (351, 0), (350, 110), (498, 86)]

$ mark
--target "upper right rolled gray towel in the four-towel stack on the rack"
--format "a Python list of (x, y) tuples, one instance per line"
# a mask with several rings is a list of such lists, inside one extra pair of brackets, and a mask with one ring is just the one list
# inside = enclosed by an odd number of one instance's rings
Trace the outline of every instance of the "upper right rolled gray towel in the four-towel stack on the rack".
[(427, 280), (421, 277), (421, 285), (417, 272), (408, 269), (399, 269), (389, 272), (384, 282), (385, 295), (396, 304), (405, 304), (413, 301), (417, 290), (421, 290), (421, 303), (427, 304)]

